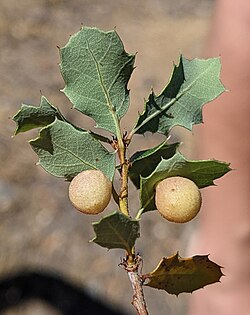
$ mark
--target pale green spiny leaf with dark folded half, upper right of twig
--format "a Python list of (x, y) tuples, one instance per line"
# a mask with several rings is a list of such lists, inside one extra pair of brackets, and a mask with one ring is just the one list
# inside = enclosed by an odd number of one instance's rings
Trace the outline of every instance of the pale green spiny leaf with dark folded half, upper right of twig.
[(157, 96), (152, 91), (133, 133), (146, 131), (167, 135), (174, 126), (192, 130), (202, 122), (202, 106), (225, 91), (220, 75), (220, 59), (180, 57), (169, 83)]

